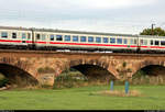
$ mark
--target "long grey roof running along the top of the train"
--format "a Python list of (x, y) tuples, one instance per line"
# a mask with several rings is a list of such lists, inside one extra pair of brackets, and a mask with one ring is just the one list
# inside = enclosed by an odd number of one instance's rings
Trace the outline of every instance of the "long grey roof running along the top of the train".
[(70, 34), (90, 34), (90, 35), (106, 35), (106, 36), (130, 36), (130, 37), (158, 37), (165, 38), (165, 36), (155, 35), (134, 35), (134, 34), (117, 34), (117, 33), (102, 33), (102, 32), (85, 32), (85, 31), (69, 31), (69, 30), (54, 30), (54, 29), (36, 29), (36, 27), (22, 27), (22, 26), (0, 26), (0, 30), (23, 30), (23, 31), (36, 31), (36, 32), (54, 32), (54, 33), (70, 33)]

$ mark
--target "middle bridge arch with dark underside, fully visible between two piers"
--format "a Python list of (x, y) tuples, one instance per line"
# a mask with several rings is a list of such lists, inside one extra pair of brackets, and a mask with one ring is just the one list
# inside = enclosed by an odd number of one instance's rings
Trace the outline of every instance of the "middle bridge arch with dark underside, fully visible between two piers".
[[(113, 79), (116, 80), (117, 77), (113, 72), (109, 69), (109, 64), (99, 60), (70, 60), (69, 63), (65, 64), (65, 67), (62, 68), (61, 74), (66, 69), (74, 68), (80, 71), (82, 75), (87, 76), (88, 78), (100, 78), (103, 77), (105, 80)], [(59, 74), (59, 75), (61, 75)], [(102, 78), (102, 79), (103, 79)]]

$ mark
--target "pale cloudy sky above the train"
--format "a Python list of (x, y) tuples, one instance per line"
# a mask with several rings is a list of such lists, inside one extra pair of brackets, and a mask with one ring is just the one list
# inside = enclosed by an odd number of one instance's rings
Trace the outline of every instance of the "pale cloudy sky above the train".
[(139, 34), (165, 29), (165, 0), (0, 0), (0, 25)]

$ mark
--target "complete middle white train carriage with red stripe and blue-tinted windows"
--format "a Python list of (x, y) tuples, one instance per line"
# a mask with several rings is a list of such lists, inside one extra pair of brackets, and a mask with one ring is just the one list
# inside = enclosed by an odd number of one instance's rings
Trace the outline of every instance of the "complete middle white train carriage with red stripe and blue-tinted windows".
[(136, 35), (35, 29), (37, 47), (68, 49), (136, 51)]

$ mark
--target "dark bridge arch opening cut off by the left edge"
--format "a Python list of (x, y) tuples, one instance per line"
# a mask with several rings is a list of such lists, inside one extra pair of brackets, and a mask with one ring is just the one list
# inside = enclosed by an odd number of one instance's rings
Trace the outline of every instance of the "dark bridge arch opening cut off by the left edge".
[(32, 75), (22, 67), (18, 67), (18, 65), (0, 63), (0, 72), (9, 79), (11, 85), (16, 85), (18, 87), (34, 86), (38, 83)]

